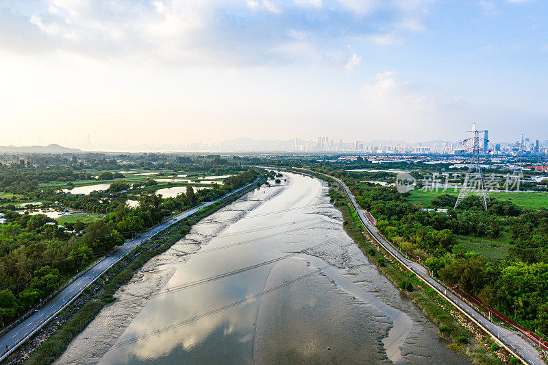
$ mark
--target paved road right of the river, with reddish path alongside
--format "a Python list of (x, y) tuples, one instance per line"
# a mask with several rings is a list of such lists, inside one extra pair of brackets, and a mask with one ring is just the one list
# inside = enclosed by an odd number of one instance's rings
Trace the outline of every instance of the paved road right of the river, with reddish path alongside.
[[(326, 175), (329, 176), (329, 175)], [(335, 177), (329, 176), (333, 179), (336, 179)], [(358, 216), (360, 217), (360, 221), (362, 221), (363, 225), (366, 227), (366, 229), (369, 231), (371, 235), (375, 237), (377, 242), (379, 244), (382, 244), (382, 247), (386, 249), (391, 255), (397, 258), (404, 266), (407, 266), (410, 270), (412, 270), (416, 275), (421, 277), (424, 281), (426, 281), (430, 286), (435, 288), (439, 294), (445, 295), (446, 299), (448, 301), (451, 301), (454, 305), (458, 306), (460, 310), (464, 311), (470, 318), (476, 321), (476, 323), (480, 326), (482, 326), (484, 329), (489, 331), (493, 336), (496, 338), (499, 338), (501, 342), (506, 344), (514, 353), (519, 355), (522, 360), (527, 362), (528, 364), (532, 365), (545, 365), (545, 362), (540, 359), (540, 354), (538, 351), (530, 344), (529, 342), (523, 340), (516, 332), (510, 331), (504, 327), (500, 327), (499, 325), (496, 325), (495, 323), (490, 322), (487, 318), (483, 316), (483, 314), (480, 314), (479, 312), (476, 312), (473, 307), (462, 301), (460, 298), (456, 297), (456, 295), (451, 294), (451, 292), (447, 292), (447, 289), (438, 283), (435, 279), (433, 279), (426, 268), (421, 266), (421, 264), (414, 262), (412, 260), (408, 260), (405, 256), (403, 256), (397, 249), (393, 247), (390, 242), (385, 240), (379, 233), (377, 227), (371, 225), (369, 221), (366, 219), (364, 215), (364, 210), (360, 208), (358, 203), (356, 203), (356, 199), (354, 198), (353, 194), (350, 192), (349, 188), (346, 186), (346, 184), (340, 180), (336, 179), (340, 186), (342, 186), (347, 193), (347, 196), (349, 197), (354, 209), (358, 213)]]

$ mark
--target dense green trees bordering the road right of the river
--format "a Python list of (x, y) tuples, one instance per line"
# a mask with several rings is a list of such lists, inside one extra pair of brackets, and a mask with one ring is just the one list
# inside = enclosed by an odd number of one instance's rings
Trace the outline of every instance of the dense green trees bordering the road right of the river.
[[(432, 206), (447, 214), (420, 210), (395, 187), (365, 184), (341, 171), (356, 201), (377, 218), (377, 228), (410, 255), (420, 257), (434, 275), (475, 294), (517, 323), (548, 335), (548, 211), (523, 210), (493, 199), (484, 211), (477, 197), (457, 210), (456, 197), (443, 194)], [(459, 244), (459, 235), (501, 239), (511, 245), (508, 256), (489, 262)]]

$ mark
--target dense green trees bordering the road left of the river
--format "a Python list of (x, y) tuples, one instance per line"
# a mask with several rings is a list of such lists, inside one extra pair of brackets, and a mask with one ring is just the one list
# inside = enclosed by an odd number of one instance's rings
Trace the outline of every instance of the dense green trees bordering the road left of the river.
[[(223, 186), (197, 192), (188, 186), (186, 193), (175, 198), (142, 194), (138, 207), (134, 208), (128, 207), (125, 197), (120, 196), (105, 203), (109, 209), (105, 218), (88, 225), (76, 221), (70, 227), (69, 224), (63, 227), (43, 214), (18, 214), (9, 207), (2, 208), (9, 224), (0, 225), (0, 323), (6, 325), (40, 303), (96, 257), (123, 244), (124, 238), (162, 222), (172, 212), (223, 197), (256, 177), (258, 172), (250, 168), (227, 178)], [(39, 192), (33, 194), (39, 195)], [(101, 194), (96, 197), (53, 194), (51, 197), (88, 210), (97, 210), (96, 205), (103, 204)], [(81, 236), (67, 228), (78, 231)]]

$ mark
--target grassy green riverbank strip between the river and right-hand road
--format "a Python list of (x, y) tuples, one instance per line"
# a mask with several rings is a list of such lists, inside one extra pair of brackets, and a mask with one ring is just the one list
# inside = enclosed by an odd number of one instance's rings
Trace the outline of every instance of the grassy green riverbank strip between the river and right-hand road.
[[(294, 171), (300, 173), (300, 171)], [(512, 357), (502, 348), (491, 350), (490, 336), (459, 314), (445, 299), (401, 266), (383, 247), (379, 246), (364, 229), (358, 215), (347, 197), (334, 179), (312, 171), (307, 174), (327, 181), (332, 188), (329, 196), (345, 219), (345, 231), (358, 245), (360, 250), (374, 262), (382, 275), (388, 278), (396, 288), (412, 300), (421, 311), (438, 326), (438, 334), (451, 340), (449, 349), (466, 355), (475, 364), (510, 364)], [(417, 290), (418, 289), (418, 290)]]

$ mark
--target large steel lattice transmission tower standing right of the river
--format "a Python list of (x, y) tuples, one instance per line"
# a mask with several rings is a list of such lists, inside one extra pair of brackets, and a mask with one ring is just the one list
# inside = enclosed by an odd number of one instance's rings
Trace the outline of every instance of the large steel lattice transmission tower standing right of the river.
[[(470, 194), (476, 194), (479, 197), (479, 201), (482, 202), (484, 209), (487, 210), (487, 202), (489, 201), (489, 192), (485, 188), (484, 184), (484, 175), (482, 174), (482, 168), (479, 166), (479, 153), (484, 149), (482, 146), (488, 142), (485, 138), (480, 137), (485, 135), (484, 130), (475, 129), (475, 123), (472, 124), (471, 132), (472, 137), (466, 138), (463, 140), (463, 144), (466, 142), (471, 142), (471, 147), (464, 149), (463, 151), (471, 151), (472, 153), (472, 165), (466, 171), (466, 176), (464, 177), (464, 184), (460, 189), (458, 194), (457, 202), (455, 203), (455, 208)], [(480, 143), (482, 142), (482, 143)]]

